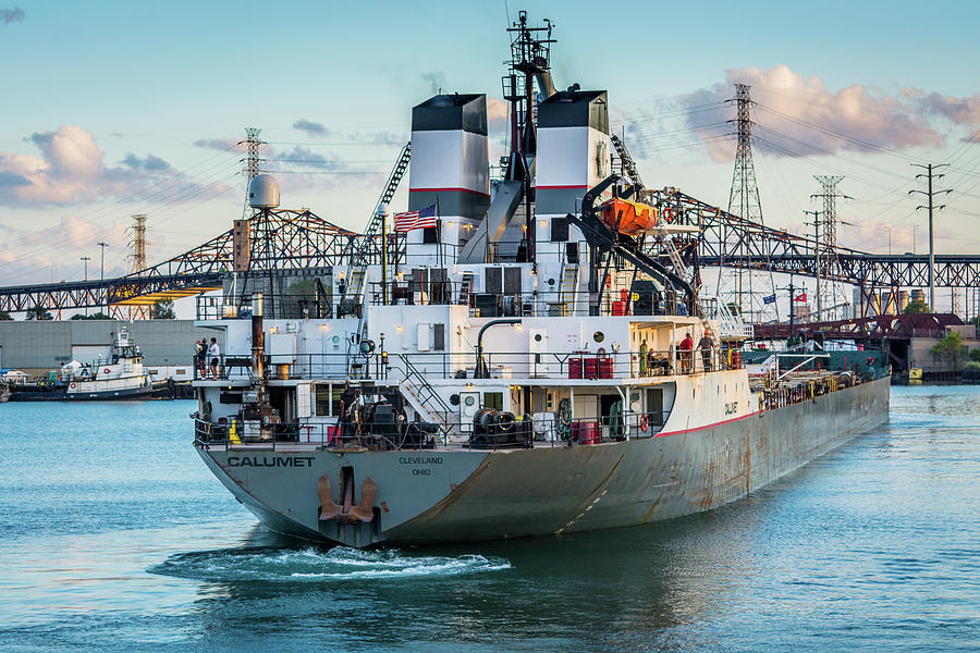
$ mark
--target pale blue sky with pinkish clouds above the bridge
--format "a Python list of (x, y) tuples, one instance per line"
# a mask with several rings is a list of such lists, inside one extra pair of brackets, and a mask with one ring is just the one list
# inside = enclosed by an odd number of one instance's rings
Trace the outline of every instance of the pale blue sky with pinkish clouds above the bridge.
[(911, 164), (950, 163), (936, 251), (980, 254), (980, 3), (0, 0), (0, 285), (95, 278), (99, 242), (125, 272), (135, 213), (150, 264), (230, 229), (246, 126), (284, 207), (362, 229), (413, 106), (501, 97), (519, 9), (554, 24), (556, 86), (609, 91), (648, 186), (727, 206), (747, 83), (768, 225), (809, 231), (813, 175), (844, 175), (840, 244), (924, 251)]

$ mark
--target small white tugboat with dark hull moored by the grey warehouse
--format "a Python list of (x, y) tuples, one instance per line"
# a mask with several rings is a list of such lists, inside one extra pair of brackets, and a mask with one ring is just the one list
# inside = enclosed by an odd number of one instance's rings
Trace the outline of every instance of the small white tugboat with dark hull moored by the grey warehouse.
[(143, 354), (123, 326), (108, 360), (76, 360), (46, 379), (9, 386), (12, 402), (77, 402), (173, 398), (173, 383), (154, 381), (143, 367)]

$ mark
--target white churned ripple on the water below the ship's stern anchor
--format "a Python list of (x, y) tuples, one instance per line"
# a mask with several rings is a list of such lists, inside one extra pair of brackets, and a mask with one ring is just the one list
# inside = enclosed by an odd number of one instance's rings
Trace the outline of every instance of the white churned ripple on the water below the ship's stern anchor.
[(510, 568), (511, 563), (506, 558), (478, 554), (412, 555), (397, 549), (360, 551), (346, 546), (330, 550), (308, 546), (182, 553), (170, 556), (147, 571), (216, 582), (320, 582), (460, 576)]

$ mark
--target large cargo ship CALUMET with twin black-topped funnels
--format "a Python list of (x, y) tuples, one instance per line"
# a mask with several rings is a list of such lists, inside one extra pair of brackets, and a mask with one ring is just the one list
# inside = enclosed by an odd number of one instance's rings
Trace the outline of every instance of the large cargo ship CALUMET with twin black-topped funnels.
[[(671, 519), (887, 418), (881, 352), (745, 359), (751, 329), (702, 296), (697, 224), (642, 184), (607, 93), (554, 88), (550, 25), (510, 33), (498, 176), (486, 96), (431, 97), (407, 211), (380, 204), (341, 264), (243, 266), (199, 304), (225, 350), (194, 383), (195, 447), (272, 530), (364, 547)], [(279, 195), (250, 182), (236, 251)]]

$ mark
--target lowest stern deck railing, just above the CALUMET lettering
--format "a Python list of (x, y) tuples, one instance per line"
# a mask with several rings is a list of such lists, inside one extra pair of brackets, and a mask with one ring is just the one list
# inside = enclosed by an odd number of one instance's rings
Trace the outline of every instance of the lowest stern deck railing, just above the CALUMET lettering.
[(194, 441), (198, 446), (270, 451), (296, 446), (370, 451), (555, 448), (656, 438), (670, 411), (618, 411), (575, 419), (562, 419), (550, 412), (534, 417), (503, 415), (506, 417), (483, 424), (456, 421), (354, 426), (334, 420), (330, 423), (297, 421), (259, 426), (241, 417), (223, 417), (218, 421), (195, 418)]

